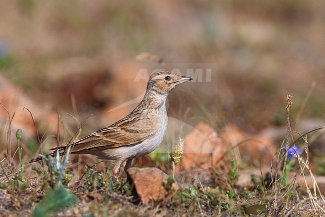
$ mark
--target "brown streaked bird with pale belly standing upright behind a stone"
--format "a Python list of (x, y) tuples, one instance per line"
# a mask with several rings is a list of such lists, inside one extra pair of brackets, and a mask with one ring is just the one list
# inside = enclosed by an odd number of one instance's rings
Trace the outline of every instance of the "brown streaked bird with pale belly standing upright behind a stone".
[[(63, 154), (70, 147), (70, 154), (91, 154), (98, 159), (114, 160), (114, 178), (118, 177), (121, 164), (124, 171), (131, 167), (132, 159), (151, 153), (161, 143), (167, 129), (166, 99), (176, 86), (192, 80), (168, 70), (153, 73), (147, 82), (141, 102), (119, 121), (93, 132), (81, 139), (60, 147), (51, 148)], [(29, 162), (41, 160), (41, 157)]]

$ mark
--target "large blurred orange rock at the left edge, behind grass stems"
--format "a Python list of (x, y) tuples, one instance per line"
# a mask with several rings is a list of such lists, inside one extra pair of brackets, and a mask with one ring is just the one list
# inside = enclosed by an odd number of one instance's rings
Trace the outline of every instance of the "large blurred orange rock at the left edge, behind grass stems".
[[(35, 121), (37, 130), (42, 136), (43, 132), (48, 132), (50, 134), (56, 133), (57, 127), (57, 115), (51, 112), (46, 105), (36, 104), (32, 99), (26, 97), (18, 88), (14, 85), (10, 84), (7, 80), (0, 77), (0, 103), (7, 109), (10, 114), (10, 118), (14, 114), (14, 117), (11, 122), (11, 141), (15, 141), (15, 134), (18, 128), (22, 129), (22, 138), (21, 138), (21, 145), (24, 148), (22, 151), (22, 156), (28, 152), (28, 149), (25, 149), (23, 145), (24, 142), (28, 141), (30, 138), (36, 138), (36, 131), (31, 119), (29, 112), (24, 109), (27, 108)], [(9, 123), (8, 114), (2, 106), (0, 106), (0, 123), (1, 123), (1, 132), (2, 137), (0, 138), (0, 152), (1, 150), (5, 150), (6, 144), (6, 135), (7, 135), (7, 128)], [(4, 123), (6, 127), (4, 127)], [(6, 150), (5, 156), (12, 157), (13, 153), (16, 150), (16, 142), (11, 142), (11, 156), (7, 156)], [(35, 153), (30, 153), (35, 154)], [(1, 157), (3, 155), (1, 154)], [(17, 162), (18, 154), (14, 155), (14, 159), (12, 162)]]

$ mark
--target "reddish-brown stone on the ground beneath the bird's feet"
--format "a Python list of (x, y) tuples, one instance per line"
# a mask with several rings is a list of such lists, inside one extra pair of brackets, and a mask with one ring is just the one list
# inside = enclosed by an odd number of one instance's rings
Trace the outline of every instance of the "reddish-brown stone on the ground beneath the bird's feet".
[(126, 174), (133, 188), (133, 196), (138, 197), (143, 204), (165, 205), (178, 189), (176, 182), (171, 184), (173, 179), (154, 167), (132, 167), (126, 171)]

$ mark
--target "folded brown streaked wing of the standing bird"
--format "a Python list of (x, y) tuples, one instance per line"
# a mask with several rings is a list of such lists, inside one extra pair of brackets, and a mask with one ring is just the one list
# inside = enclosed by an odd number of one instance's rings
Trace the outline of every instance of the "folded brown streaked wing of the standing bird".
[[(154, 132), (155, 126), (150, 119), (128, 118), (71, 142), (67, 146), (71, 146), (71, 153), (106, 150), (138, 144)], [(59, 149), (64, 150), (67, 146), (62, 146)], [(56, 148), (50, 150), (53, 149)]]

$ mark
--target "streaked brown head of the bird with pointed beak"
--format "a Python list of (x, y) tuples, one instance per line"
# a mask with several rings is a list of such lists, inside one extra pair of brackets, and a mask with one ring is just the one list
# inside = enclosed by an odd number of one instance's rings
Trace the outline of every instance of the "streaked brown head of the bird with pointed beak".
[(161, 71), (152, 74), (148, 80), (147, 89), (159, 94), (168, 94), (177, 85), (192, 80), (190, 77), (180, 76), (170, 71)]

